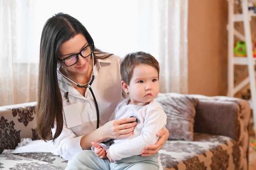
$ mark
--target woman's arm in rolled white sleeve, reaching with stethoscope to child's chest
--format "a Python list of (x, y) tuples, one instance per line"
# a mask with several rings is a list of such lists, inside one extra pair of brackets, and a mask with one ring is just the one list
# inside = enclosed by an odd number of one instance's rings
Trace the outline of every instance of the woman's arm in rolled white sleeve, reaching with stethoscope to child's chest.
[[(129, 137), (137, 124), (136, 122), (127, 124), (130, 121), (135, 121), (135, 118), (131, 117), (109, 121), (97, 130), (84, 136), (75, 135), (74, 132), (64, 124), (61, 135), (54, 140), (54, 148), (61, 157), (69, 161), (77, 152), (90, 149), (92, 141), (101, 143), (105, 139)], [(53, 135), (55, 130), (55, 128), (52, 128)]]

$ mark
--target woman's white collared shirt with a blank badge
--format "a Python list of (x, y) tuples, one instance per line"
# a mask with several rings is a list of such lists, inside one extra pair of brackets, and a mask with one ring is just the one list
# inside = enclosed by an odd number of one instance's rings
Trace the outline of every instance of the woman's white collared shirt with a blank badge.
[[(99, 106), (99, 126), (106, 124), (114, 112), (117, 104), (124, 99), (121, 87), (120, 75), (120, 57), (111, 55), (106, 59), (96, 59), (94, 66), (94, 81), (91, 88)], [(85, 97), (81, 95), (73, 85), (57, 72), (59, 88), (63, 96), (63, 130), (61, 135), (55, 139), (54, 146), (56, 152), (66, 160), (72, 157), (80, 150), (80, 140), (83, 135), (97, 129), (97, 112), (94, 100), (89, 88), (85, 91)], [(65, 99), (68, 92), (70, 102)], [(49, 94), (50, 95), (50, 94)], [(70, 103), (70, 104), (69, 104)], [(74, 104), (74, 110), (67, 111), (66, 106)], [(72, 107), (72, 106), (71, 106)], [(66, 113), (65, 113), (66, 112)], [(81, 116), (81, 125), (78, 121), (72, 122), (74, 127), (68, 128), (65, 114), (70, 112), (76, 117)], [(80, 118), (79, 118), (80, 119)], [(54, 135), (56, 129), (52, 129)]]

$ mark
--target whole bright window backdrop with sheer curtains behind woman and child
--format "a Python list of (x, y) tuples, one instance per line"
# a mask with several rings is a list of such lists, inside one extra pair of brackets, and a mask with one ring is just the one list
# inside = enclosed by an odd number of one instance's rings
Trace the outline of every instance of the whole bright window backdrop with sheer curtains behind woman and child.
[(187, 93), (188, 0), (0, 0), (0, 106), (36, 100), (40, 34), (58, 12), (81, 21), (103, 51), (151, 53), (160, 92)]

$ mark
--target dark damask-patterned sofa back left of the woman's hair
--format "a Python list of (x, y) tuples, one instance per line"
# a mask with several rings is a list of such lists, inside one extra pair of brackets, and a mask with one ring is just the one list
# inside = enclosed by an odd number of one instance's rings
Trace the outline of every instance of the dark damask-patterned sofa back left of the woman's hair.
[(15, 149), (21, 138), (38, 139), (34, 130), (36, 102), (0, 106), (0, 153)]

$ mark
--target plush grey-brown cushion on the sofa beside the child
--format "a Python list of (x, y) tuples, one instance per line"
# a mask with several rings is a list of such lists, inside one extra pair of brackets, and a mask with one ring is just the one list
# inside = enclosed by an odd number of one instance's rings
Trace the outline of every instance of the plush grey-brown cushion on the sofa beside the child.
[(195, 105), (198, 100), (178, 93), (159, 93), (155, 101), (161, 104), (167, 115), (168, 139), (193, 141)]

